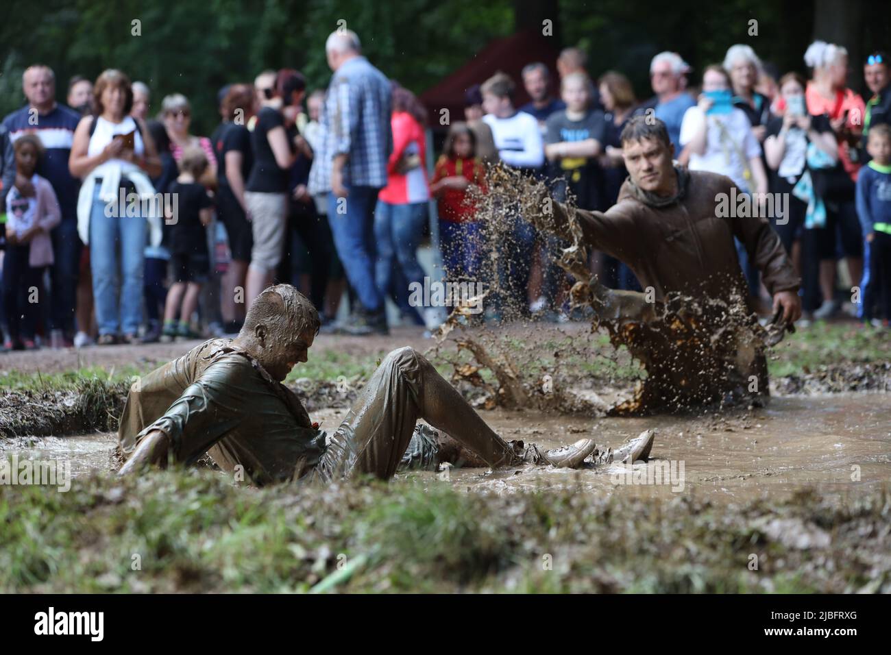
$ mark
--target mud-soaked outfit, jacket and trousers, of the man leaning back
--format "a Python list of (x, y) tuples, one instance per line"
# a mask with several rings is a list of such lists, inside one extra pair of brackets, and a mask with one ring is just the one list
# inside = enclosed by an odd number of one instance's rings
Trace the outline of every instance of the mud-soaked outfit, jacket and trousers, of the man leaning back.
[(191, 464), (208, 453), (224, 471), (241, 467), (259, 485), (388, 479), (400, 467), (437, 465), (435, 434), (415, 427), (423, 418), (490, 465), (512, 461), (511, 446), (413, 348), (384, 358), (326, 439), (290, 389), (231, 343), (208, 341), (135, 383), (119, 429), (125, 458), (149, 431), (160, 430), (176, 462)]

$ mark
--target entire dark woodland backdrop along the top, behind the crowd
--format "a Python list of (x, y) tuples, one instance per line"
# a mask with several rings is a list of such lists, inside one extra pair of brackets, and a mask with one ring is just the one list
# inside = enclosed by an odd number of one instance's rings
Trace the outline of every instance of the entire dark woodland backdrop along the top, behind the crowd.
[[(307, 75), (310, 89), (323, 88), (331, 75), (324, 42), (339, 20), (359, 34), (380, 70), (417, 93), (539, 15), (554, 21), (558, 46), (588, 52), (593, 77), (621, 70), (642, 100), (651, 94), (650, 58), (662, 50), (690, 61), (695, 85), (734, 43), (752, 45), (781, 72), (804, 72), (802, 55), (813, 36), (813, 3), (798, 0), (675, 0), (670, 6), (560, 0), (532, 9), (524, 0), (7, 0), (0, 21), (0, 115), (23, 102), (20, 77), (29, 63), (53, 67), (62, 101), (71, 76), (95, 78), (119, 68), (151, 87), (153, 110), (166, 94), (188, 96), (193, 133), (208, 135), (218, 122), (217, 90), (225, 84), (288, 67)], [(873, 4), (870, 15), (846, 45), (887, 43), (891, 9)], [(141, 36), (133, 36), (133, 20), (141, 21)], [(758, 22), (756, 37), (749, 35), (749, 20)], [(850, 83), (859, 87), (859, 67), (852, 67)]]

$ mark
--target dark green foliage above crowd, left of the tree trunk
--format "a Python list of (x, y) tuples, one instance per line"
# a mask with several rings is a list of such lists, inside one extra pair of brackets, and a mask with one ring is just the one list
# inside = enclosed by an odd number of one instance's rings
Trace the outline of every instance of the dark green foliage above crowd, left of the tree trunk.
[[(118, 68), (150, 86), (152, 113), (166, 94), (185, 94), (192, 132), (208, 135), (218, 122), (217, 90), (226, 84), (288, 67), (301, 70), (310, 89), (326, 86), (324, 43), (338, 20), (359, 34), (364, 53), (389, 77), (421, 92), (509, 34), (512, 15), (505, 0), (12, 0), (0, 22), (0, 115), (24, 102), (20, 80), (29, 63), (55, 70), (62, 102), (71, 76)], [(133, 20), (141, 21), (141, 36), (133, 36)]]

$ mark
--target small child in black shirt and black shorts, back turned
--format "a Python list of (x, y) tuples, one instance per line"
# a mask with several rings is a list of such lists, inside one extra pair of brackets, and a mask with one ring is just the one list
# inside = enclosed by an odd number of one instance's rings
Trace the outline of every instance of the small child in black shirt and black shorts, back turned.
[[(180, 175), (169, 185), (172, 208), (165, 209), (170, 225), (170, 276), (173, 283), (164, 308), (161, 341), (199, 339), (190, 321), (198, 307), (201, 284), (210, 273), (206, 226), (213, 218), (207, 190), (198, 180), (208, 169), (208, 157), (198, 147), (188, 147), (179, 160)], [(179, 315), (179, 324), (176, 316)]]

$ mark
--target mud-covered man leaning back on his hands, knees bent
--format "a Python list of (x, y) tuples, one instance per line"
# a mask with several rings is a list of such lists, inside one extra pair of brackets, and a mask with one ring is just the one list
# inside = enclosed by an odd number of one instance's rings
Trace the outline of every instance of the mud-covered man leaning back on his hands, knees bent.
[[(315, 307), (289, 284), (263, 291), (233, 340), (209, 340), (135, 383), (121, 417), (121, 474), (148, 465), (195, 463), (209, 454), (254, 484), (523, 463), (580, 467), (646, 459), (652, 430), (613, 453), (581, 439), (543, 451), (504, 441), (413, 348), (384, 358), (331, 438), (282, 381), (319, 330)], [(418, 426), (424, 419), (436, 430)]]

